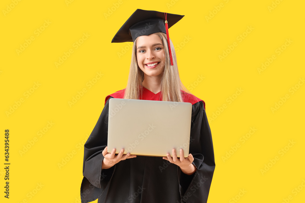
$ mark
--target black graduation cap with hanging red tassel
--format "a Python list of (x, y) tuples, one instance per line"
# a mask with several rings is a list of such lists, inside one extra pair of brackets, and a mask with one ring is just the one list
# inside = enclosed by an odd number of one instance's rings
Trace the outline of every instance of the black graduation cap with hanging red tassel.
[(134, 42), (137, 37), (142, 35), (150, 35), (157, 32), (166, 33), (170, 64), (173, 65), (168, 28), (183, 17), (177, 14), (137, 9), (115, 34), (111, 42)]

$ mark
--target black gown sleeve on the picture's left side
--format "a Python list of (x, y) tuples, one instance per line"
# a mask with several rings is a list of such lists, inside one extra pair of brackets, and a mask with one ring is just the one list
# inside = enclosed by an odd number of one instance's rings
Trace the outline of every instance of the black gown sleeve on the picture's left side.
[[(113, 98), (113, 97), (110, 97)], [(109, 98), (109, 99), (110, 99)], [(83, 180), (81, 183), (81, 202), (87, 203), (99, 198), (108, 191), (115, 166), (102, 170), (104, 156), (102, 151), (107, 146), (109, 99), (84, 144)]]

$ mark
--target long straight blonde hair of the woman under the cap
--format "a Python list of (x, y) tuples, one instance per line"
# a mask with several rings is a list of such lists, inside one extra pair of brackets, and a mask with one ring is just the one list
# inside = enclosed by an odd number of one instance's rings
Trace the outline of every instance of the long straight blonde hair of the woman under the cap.
[[(174, 63), (174, 65), (171, 66), (166, 34), (161, 32), (154, 34), (158, 35), (161, 38), (166, 56), (164, 72), (160, 84), (162, 92), (162, 101), (183, 102), (181, 90), (187, 93), (190, 92), (185, 88), (185, 86), (180, 80), (174, 45), (170, 40), (170, 49)], [(142, 90), (142, 81), (144, 80), (144, 73), (138, 67), (136, 42), (137, 39), (135, 39), (132, 47), (130, 71), (127, 86), (125, 89), (124, 99), (139, 99), (140, 91)]]

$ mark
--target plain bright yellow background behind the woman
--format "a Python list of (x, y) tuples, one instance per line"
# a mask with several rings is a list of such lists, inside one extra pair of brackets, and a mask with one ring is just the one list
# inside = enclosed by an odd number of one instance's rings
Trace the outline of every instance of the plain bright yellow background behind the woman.
[[(206, 102), (216, 162), (208, 202), (304, 202), (304, 5), (297, 0), (2, 0), (1, 202), (79, 202), (83, 144), (105, 97), (127, 83), (132, 43), (111, 40), (138, 8), (185, 15), (169, 33), (183, 84)], [(81, 41), (84, 33), (90, 36)], [(77, 49), (76, 41), (83, 42)], [(17, 53), (23, 44), (27, 47)], [(285, 50), (277, 52), (282, 46)], [(220, 60), (224, 52), (230, 53)], [(259, 71), (272, 55), (276, 58)], [(298, 88), (293, 94), (292, 87)], [(238, 89), (242, 93), (235, 95)], [(272, 110), (276, 103), (281, 105)], [(11, 107), (16, 109), (7, 115)], [(3, 193), (5, 129), (10, 131), (9, 199)], [(41, 130), (44, 134), (37, 134)], [(262, 172), (265, 164), (271, 167)], [(302, 190), (293, 191), (298, 186)]]

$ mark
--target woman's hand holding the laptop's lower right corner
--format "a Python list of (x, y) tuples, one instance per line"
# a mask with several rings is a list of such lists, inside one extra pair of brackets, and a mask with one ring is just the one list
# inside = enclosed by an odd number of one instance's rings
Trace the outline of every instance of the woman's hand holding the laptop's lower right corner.
[(181, 171), (187, 175), (191, 175), (197, 170), (196, 166), (192, 164), (192, 162), (194, 161), (193, 155), (189, 154), (187, 158), (184, 158), (183, 149), (180, 149), (180, 158), (177, 157), (176, 150), (173, 149), (173, 157), (171, 157), (170, 154), (167, 153), (167, 155), (164, 156), (163, 159), (169, 161), (170, 163), (176, 164), (180, 167)]

